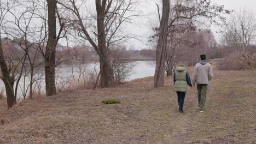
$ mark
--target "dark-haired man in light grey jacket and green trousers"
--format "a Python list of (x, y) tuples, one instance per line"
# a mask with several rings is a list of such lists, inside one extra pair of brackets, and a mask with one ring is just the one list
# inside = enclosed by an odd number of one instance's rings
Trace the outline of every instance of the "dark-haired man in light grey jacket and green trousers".
[(197, 97), (200, 112), (205, 108), (207, 87), (213, 77), (212, 66), (206, 61), (206, 55), (200, 55), (201, 61), (195, 65), (193, 74), (193, 87), (197, 83)]

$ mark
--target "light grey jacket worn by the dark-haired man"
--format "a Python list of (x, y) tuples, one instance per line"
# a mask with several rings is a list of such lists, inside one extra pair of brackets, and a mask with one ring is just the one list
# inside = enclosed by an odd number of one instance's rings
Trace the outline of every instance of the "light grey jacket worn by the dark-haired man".
[(193, 85), (208, 84), (213, 77), (212, 66), (207, 61), (200, 61), (195, 65), (193, 74)]

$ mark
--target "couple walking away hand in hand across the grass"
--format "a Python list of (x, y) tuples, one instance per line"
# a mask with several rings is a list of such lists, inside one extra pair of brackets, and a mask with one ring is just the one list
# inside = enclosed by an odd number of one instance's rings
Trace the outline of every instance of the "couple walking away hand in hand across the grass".
[(191, 84), (189, 74), (182, 62), (178, 63), (178, 67), (173, 75), (174, 91), (176, 91), (178, 95), (179, 112), (183, 112), (187, 85), (195, 87), (195, 83), (197, 84), (198, 109), (200, 112), (203, 112), (205, 108), (207, 86), (208, 82), (213, 77), (213, 73), (211, 64), (206, 61), (206, 55), (200, 55), (200, 58), (201, 61), (195, 65), (193, 85)]

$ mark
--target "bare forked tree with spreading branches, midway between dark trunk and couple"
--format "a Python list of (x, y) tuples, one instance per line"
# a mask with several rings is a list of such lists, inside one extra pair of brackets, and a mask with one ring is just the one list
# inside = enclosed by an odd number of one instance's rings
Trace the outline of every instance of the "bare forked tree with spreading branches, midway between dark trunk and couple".
[[(86, 3), (86, 2), (85, 2)], [(110, 67), (109, 47), (130, 37), (127, 34), (121, 35), (121, 27), (124, 23), (130, 22), (131, 0), (95, 0), (96, 15), (88, 11), (88, 17), (82, 11), (86, 8), (83, 2), (69, 0), (61, 2), (63, 7), (69, 9), (74, 17), (67, 17), (73, 28), (80, 37), (88, 40), (100, 58), (100, 87), (109, 87), (113, 80), (113, 70)], [(69, 7), (71, 5), (71, 7)]]

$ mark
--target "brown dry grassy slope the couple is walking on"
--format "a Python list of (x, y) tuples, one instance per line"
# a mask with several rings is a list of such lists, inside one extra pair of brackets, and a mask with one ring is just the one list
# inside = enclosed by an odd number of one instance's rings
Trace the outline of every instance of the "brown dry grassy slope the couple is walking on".
[[(214, 76), (203, 113), (196, 88), (189, 88), (185, 112), (178, 112), (172, 78), (162, 88), (146, 77), (26, 100), (0, 111), (0, 143), (256, 143), (256, 71), (214, 69)], [(121, 104), (101, 104), (108, 98)]]

